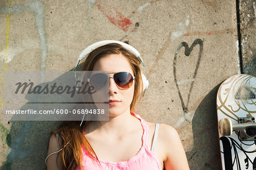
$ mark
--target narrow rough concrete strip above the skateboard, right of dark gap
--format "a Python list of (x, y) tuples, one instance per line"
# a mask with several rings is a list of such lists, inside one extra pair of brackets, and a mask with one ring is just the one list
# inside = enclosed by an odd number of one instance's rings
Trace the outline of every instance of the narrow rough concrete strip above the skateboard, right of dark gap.
[(243, 72), (256, 76), (256, 2), (241, 1), (239, 4)]

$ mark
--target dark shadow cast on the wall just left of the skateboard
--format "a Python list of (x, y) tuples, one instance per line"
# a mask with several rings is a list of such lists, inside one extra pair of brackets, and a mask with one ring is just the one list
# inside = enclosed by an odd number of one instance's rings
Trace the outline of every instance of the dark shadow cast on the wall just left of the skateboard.
[(193, 116), (193, 148), (186, 153), (191, 169), (222, 169), (216, 109), (220, 84), (204, 97)]

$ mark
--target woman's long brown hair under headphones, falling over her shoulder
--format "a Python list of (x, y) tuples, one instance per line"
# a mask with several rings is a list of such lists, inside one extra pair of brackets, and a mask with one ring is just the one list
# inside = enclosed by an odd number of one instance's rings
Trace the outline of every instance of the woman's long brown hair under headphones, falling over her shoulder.
[[(88, 57), (82, 63), (82, 71), (92, 71), (94, 63), (104, 56), (109, 54), (123, 54), (127, 57), (130, 62), (133, 74), (135, 76), (134, 84), (134, 96), (133, 101), (130, 104), (130, 111), (134, 110), (135, 103), (141, 99), (143, 92), (143, 82), (141, 77), (141, 61), (132, 52), (123, 48), (122, 45), (117, 43), (111, 43), (104, 46), (100, 46), (94, 49)], [(88, 151), (88, 154), (92, 159), (96, 156), (96, 160), (99, 164), (97, 155), (90, 146), (90, 143), (85, 138), (83, 134), (83, 129), (89, 124), (90, 121), (82, 122), (80, 126), (79, 121), (64, 121), (59, 128), (52, 133), (52, 135), (59, 136), (61, 146), (63, 146), (63, 151), (61, 153), (61, 168), (62, 169), (75, 169), (79, 167), (82, 169), (82, 146)], [(68, 143), (68, 145), (66, 145)], [(65, 146), (66, 145), (66, 146)]]

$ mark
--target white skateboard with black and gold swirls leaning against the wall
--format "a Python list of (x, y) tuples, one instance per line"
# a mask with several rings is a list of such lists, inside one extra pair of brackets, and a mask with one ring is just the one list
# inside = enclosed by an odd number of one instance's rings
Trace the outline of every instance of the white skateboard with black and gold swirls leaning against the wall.
[(256, 169), (256, 78), (230, 76), (218, 88), (222, 169)]

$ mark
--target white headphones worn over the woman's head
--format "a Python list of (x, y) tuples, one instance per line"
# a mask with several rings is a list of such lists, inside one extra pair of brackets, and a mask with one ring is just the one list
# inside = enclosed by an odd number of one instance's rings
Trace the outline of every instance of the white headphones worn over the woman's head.
[[(136, 57), (139, 58), (139, 60), (142, 62), (143, 65), (143, 70), (145, 75), (141, 72), (141, 76), (142, 76), (142, 82), (143, 82), (143, 92), (146, 90), (146, 88), (148, 88), (148, 80), (147, 80), (147, 73), (146, 73), (146, 69), (144, 67), (144, 63), (143, 63), (143, 59), (141, 58), (141, 54), (139, 54), (138, 50), (133, 48), (133, 46), (126, 44), (125, 42), (121, 42), (121, 41), (115, 41), (115, 40), (104, 40), (104, 41), (98, 41), (95, 42), (92, 45), (89, 45), (88, 47), (86, 47), (84, 50), (82, 50), (82, 52), (79, 54), (79, 57), (77, 58), (76, 61), (76, 65), (75, 68), (73, 69), (73, 71), (76, 70), (76, 67), (79, 65), (80, 60), (84, 59), (89, 53), (91, 53), (94, 49), (106, 45), (106, 44), (110, 44), (110, 43), (117, 43), (122, 45), (125, 49), (129, 50), (130, 52), (132, 52)], [(76, 76), (76, 74), (75, 74)]]

